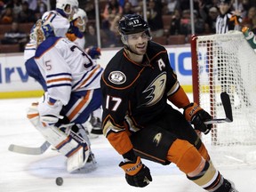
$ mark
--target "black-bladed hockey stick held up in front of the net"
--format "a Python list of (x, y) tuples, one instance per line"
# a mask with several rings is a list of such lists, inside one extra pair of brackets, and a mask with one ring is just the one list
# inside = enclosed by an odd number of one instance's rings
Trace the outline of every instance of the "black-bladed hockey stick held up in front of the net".
[(220, 99), (225, 111), (226, 118), (217, 118), (212, 119), (210, 121), (204, 122), (204, 124), (220, 124), (220, 123), (231, 123), (233, 122), (233, 115), (232, 115), (232, 108), (231, 108), (231, 102), (229, 99), (229, 95), (227, 92), (221, 92), (220, 93)]

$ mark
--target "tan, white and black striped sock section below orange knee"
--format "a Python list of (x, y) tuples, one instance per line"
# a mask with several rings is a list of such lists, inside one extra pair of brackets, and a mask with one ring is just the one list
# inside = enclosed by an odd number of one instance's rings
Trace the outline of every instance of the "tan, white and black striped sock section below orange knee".
[(213, 166), (212, 162), (205, 162), (204, 169), (194, 177), (188, 177), (201, 188), (207, 191), (215, 191), (223, 183), (223, 177)]

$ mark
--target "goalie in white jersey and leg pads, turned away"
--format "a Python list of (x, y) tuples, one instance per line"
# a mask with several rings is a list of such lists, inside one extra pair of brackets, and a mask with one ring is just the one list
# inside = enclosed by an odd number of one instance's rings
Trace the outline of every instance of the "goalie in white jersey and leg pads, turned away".
[[(101, 105), (103, 68), (67, 38), (54, 35), (49, 22), (38, 20), (30, 34), (36, 42), (36, 65), (44, 98), (28, 109), (28, 119), (44, 138), (68, 157), (68, 172), (82, 168), (92, 151), (84, 124)], [(39, 73), (39, 74), (38, 74)], [(36, 79), (37, 80), (37, 79)]]

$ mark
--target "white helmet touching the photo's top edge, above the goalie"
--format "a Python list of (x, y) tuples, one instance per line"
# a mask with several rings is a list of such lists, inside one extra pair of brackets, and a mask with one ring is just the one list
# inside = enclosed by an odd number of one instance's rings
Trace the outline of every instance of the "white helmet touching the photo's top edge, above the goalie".
[(62, 10), (67, 16), (71, 16), (77, 12), (77, 0), (57, 0), (56, 8)]

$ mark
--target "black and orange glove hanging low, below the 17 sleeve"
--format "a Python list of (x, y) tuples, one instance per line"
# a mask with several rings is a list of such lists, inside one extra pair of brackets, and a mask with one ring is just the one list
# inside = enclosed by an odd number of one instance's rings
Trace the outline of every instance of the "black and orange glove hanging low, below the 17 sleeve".
[(125, 179), (131, 186), (144, 188), (152, 181), (149, 169), (141, 163), (140, 156), (133, 161), (121, 162), (119, 166), (124, 170)]

